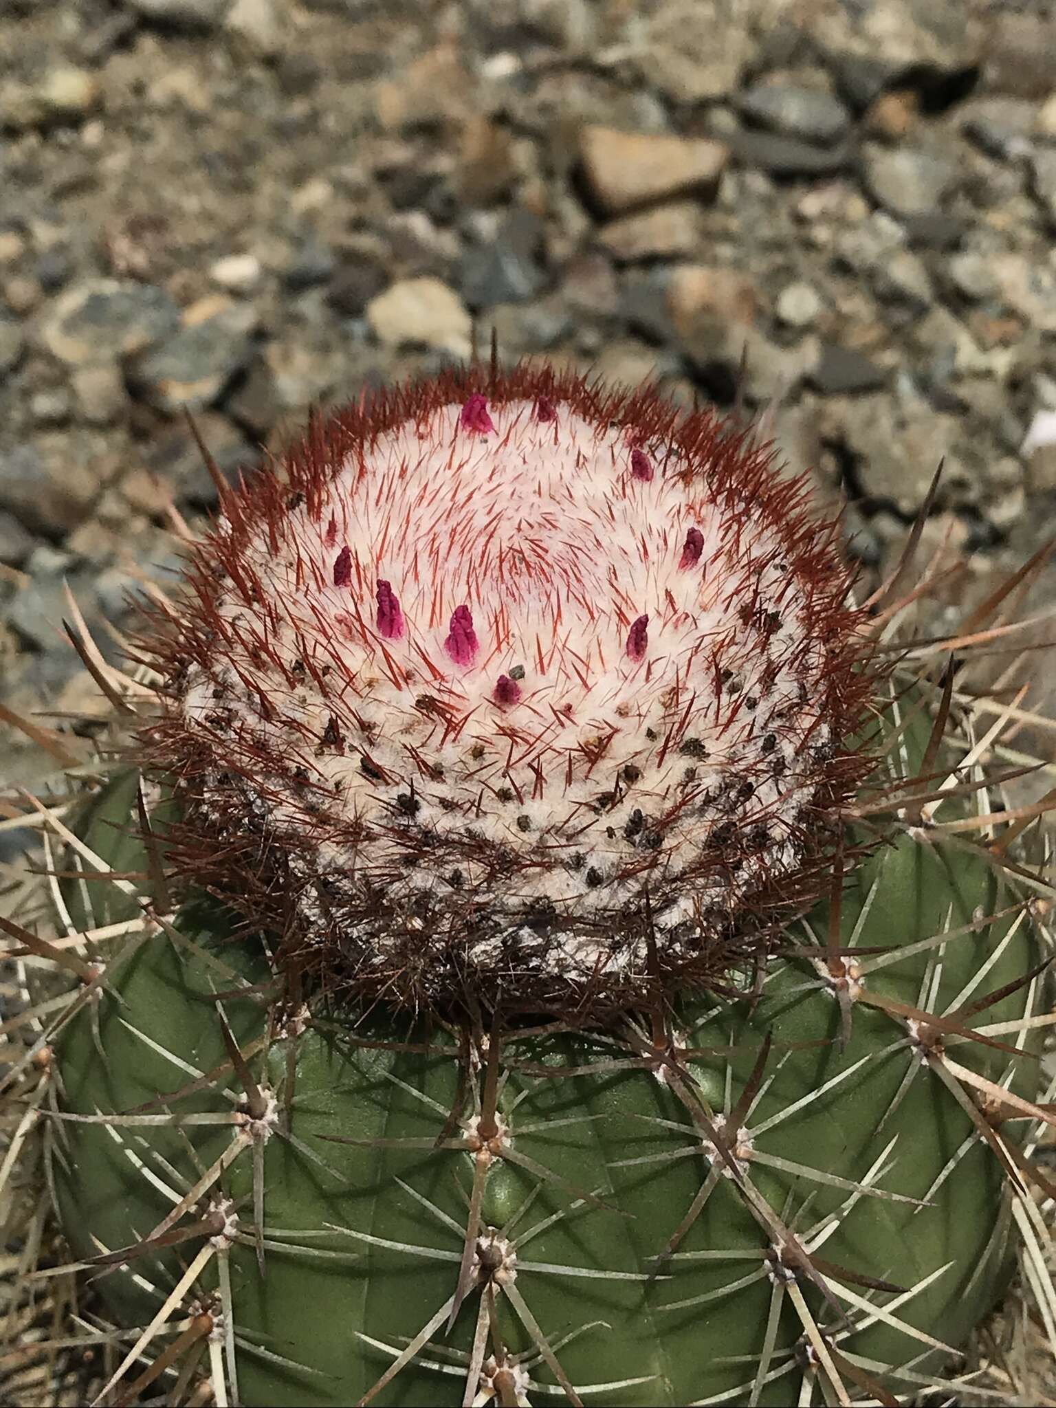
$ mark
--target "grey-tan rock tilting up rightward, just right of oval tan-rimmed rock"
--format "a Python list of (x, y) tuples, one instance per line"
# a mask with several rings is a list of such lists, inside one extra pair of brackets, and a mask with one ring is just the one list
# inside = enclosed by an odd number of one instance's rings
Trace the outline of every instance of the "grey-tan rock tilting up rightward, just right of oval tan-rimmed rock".
[(239, 306), (184, 325), (135, 358), (130, 366), (134, 390), (169, 415), (214, 406), (249, 363), (255, 322), (253, 311)]

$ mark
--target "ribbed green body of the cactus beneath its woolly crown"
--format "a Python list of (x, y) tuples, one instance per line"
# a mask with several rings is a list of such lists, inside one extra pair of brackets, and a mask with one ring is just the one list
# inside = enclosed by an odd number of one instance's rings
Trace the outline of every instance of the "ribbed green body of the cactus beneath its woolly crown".
[[(114, 826), (131, 815), (130, 788), (130, 781), (114, 786), (87, 826), (89, 843), (115, 869), (132, 869), (135, 859), (134, 842)], [(101, 887), (93, 890), (101, 898)], [(127, 912), (130, 903), (117, 898), (106, 918)], [(1031, 967), (1035, 941), (1014, 905), (983, 859), (907, 834), (855, 872), (841, 942), (881, 950), (860, 960), (866, 969), (893, 957), (867, 974), (866, 993), (941, 1014)], [(1004, 917), (979, 922), (981, 915)], [(177, 928), (193, 946), (180, 948), (163, 932), (146, 939), (115, 973), (121, 1002), (103, 1000), (97, 1042), (84, 1014), (62, 1043), (69, 1112), (130, 1111), (153, 1101), (155, 1111), (187, 1115), (182, 1128), (63, 1122), (56, 1181), (82, 1256), (146, 1236), (173, 1198), (232, 1148), (231, 1125), (193, 1122), (200, 1111), (230, 1112), (224, 1091), (239, 1090), (213, 994), (260, 981), (268, 969), (244, 942), (231, 941), (210, 903), (184, 910)], [(824, 945), (826, 931), (822, 905), (788, 938)], [(945, 945), (922, 943), (943, 934), (950, 935)], [(986, 1021), (1014, 1021), (1028, 1001), (1028, 990), (1014, 991), (987, 1008)], [(235, 1039), (253, 1052), (266, 1026), (259, 998), (225, 997), (222, 1008)], [(815, 1354), (804, 1353), (797, 1295), (822, 1326), (852, 1394), (867, 1397), (862, 1385), (869, 1380), (908, 1391), (914, 1374), (924, 1380), (948, 1357), (936, 1345), (963, 1343), (1008, 1273), (1001, 1170), (948, 1084), (915, 1052), (905, 1024), (860, 1001), (853, 1008), (841, 1050), (831, 984), (810, 957), (791, 955), (774, 963), (755, 1005), (696, 1004), (683, 1012), (679, 1036), (683, 1050), (718, 1049), (679, 1057), (712, 1118), (738, 1104), (770, 1036), (743, 1119), (749, 1148), (731, 1148), (746, 1155), (742, 1173), (749, 1197), (769, 1209), (763, 1218), (791, 1228), (824, 1262), (835, 1304), (801, 1267), (797, 1274), (794, 1263), (783, 1269), (766, 1260), (777, 1236), (762, 1229), (714, 1148), (711, 1157), (700, 1152), (700, 1124), (694, 1132), (666, 1067), (627, 1069), (649, 1049), (648, 1033), (629, 1042), (615, 1032), (503, 1041), (498, 1110), (507, 1131), (498, 1145), (511, 1140), (510, 1157), (501, 1148), (496, 1157), (483, 1156), (482, 1228), (513, 1245), (515, 1278), (504, 1288), (500, 1270), (490, 1287), (501, 1343), (511, 1362), (520, 1356), (528, 1367), (498, 1384), (497, 1401), (500, 1390), (525, 1401), (562, 1394), (514, 1297), (556, 1347), (584, 1401), (780, 1404), (800, 1393), (804, 1373), (826, 1384), (824, 1367), (811, 1367)], [(489, 1288), (470, 1287), (446, 1333), (448, 1315), (436, 1316), (458, 1283), (482, 1157), (465, 1148), (470, 1100), (460, 1122), (446, 1124), (458, 1095), (459, 1046), (446, 1032), (434, 1032), (431, 1053), (362, 1045), (369, 1041), (422, 1043), (427, 1036), (406, 1022), (365, 1026), (331, 1014), (300, 1035), (276, 1033), (266, 1057), (249, 1056), (280, 1107), (287, 1081), (296, 1080), (290, 1132), (297, 1143), (276, 1133), (263, 1146), (265, 1276), (253, 1247), (249, 1143), (213, 1188), (215, 1197), (224, 1187), (241, 1219), (227, 1276), (245, 1404), (358, 1401), (431, 1322), (428, 1342), (375, 1401), (463, 1401)], [(1017, 1064), (974, 1043), (952, 1049), (995, 1081)], [(206, 1090), (158, 1104), (196, 1073), (225, 1066)], [(555, 1074), (536, 1074), (541, 1067)], [(569, 1067), (577, 1074), (559, 1074)], [(480, 1091), (486, 1071), (469, 1074)], [(445, 1126), (449, 1146), (432, 1149)], [(156, 1180), (172, 1190), (168, 1200)], [(676, 1256), (658, 1262), (710, 1183)], [(145, 1325), (200, 1245), (201, 1236), (138, 1257), (111, 1270), (100, 1290), (124, 1322)], [(210, 1260), (200, 1286), (217, 1284), (217, 1263)], [(870, 1287), (870, 1278), (886, 1288)], [(562, 1343), (565, 1336), (573, 1338)], [(487, 1352), (494, 1356), (491, 1338)], [(522, 1374), (538, 1387), (525, 1387)]]

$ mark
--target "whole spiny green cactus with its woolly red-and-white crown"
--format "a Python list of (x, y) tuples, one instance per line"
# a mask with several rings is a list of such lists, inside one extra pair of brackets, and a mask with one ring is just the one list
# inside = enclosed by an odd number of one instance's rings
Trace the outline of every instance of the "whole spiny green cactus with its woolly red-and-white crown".
[(100, 1402), (959, 1393), (1018, 1245), (1056, 1339), (1048, 803), (950, 659), (1001, 594), (887, 663), (769, 451), (494, 367), (189, 552), (138, 676), (79, 639), (141, 772), (39, 808), (66, 939), (7, 922)]

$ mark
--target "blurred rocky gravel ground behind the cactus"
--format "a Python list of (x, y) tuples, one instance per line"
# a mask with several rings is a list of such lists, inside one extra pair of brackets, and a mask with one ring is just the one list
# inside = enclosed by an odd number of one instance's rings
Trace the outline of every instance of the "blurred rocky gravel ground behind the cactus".
[(939, 460), (950, 600), (1052, 531), (1048, 3), (0, 0), (0, 704), (96, 707), (62, 583), (172, 574), (183, 408), (234, 473), (474, 321), (770, 407), (867, 574)]

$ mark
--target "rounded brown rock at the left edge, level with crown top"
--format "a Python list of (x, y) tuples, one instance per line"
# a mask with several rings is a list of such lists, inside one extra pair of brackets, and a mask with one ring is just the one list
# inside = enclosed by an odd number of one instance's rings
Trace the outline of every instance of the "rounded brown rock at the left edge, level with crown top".
[(49, 444), (0, 452), (0, 510), (30, 532), (62, 538), (87, 518), (100, 477), (89, 446), (72, 446), (68, 436), (42, 439)]

